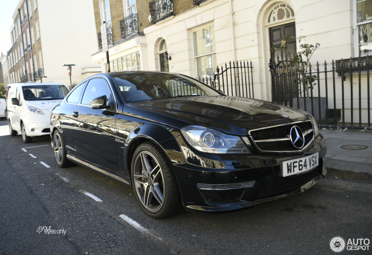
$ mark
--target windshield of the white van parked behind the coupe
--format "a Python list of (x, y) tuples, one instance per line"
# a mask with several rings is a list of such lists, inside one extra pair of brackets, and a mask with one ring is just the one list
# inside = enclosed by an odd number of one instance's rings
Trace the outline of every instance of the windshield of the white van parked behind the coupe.
[(64, 99), (68, 90), (64, 85), (32, 85), (23, 87), (26, 101)]

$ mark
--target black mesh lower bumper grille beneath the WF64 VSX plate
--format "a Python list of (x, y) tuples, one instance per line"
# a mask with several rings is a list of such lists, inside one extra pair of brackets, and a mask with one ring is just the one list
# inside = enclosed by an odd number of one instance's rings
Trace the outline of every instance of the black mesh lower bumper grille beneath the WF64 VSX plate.
[(319, 167), (315, 167), (314, 170), (297, 176), (279, 177), (277, 175), (270, 180), (266, 179), (260, 186), (257, 198), (301, 187), (318, 174)]

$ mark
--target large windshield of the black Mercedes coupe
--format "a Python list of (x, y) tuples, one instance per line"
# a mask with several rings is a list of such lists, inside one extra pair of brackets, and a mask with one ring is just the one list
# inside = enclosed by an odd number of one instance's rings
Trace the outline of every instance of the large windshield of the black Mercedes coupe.
[(128, 103), (183, 96), (221, 96), (207, 85), (183, 75), (146, 72), (113, 78)]

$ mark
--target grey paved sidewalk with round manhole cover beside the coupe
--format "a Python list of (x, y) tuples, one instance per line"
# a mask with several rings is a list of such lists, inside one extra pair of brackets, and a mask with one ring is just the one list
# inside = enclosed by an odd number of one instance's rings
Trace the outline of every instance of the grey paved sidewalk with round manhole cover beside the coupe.
[[(372, 182), (372, 133), (333, 130), (320, 132), (327, 143), (327, 156), (324, 161), (327, 175)], [(340, 148), (343, 145), (364, 145), (369, 148)]]

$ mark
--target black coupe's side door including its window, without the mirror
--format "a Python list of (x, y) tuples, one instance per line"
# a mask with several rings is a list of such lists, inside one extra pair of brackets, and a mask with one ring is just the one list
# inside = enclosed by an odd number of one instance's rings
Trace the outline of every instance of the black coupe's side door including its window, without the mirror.
[(81, 103), (73, 110), (76, 126), (71, 135), (76, 147), (76, 155), (104, 168), (118, 171), (115, 149), (116, 109), (92, 109), (94, 98), (105, 95), (112, 100), (112, 92), (106, 80), (92, 78), (84, 90)]

